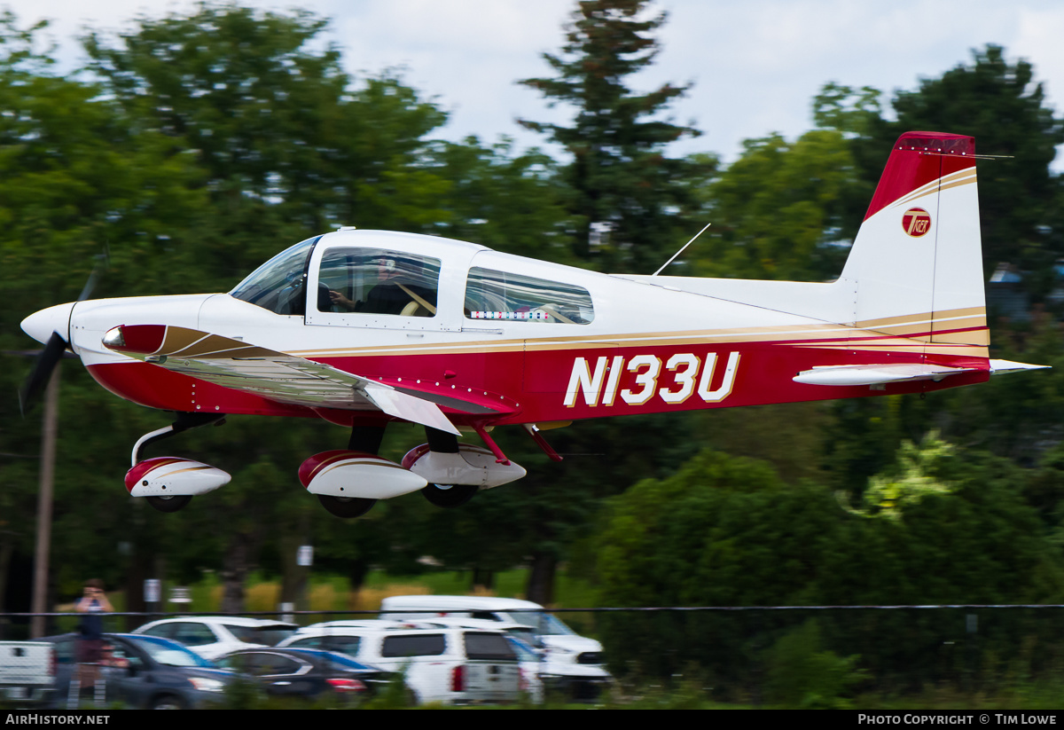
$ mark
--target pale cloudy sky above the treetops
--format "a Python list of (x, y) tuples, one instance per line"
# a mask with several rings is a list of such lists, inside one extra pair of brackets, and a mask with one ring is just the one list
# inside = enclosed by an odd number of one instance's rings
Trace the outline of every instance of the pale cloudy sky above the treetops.
[[(541, 59), (556, 51), (575, 0), (301, 0), (247, 2), (264, 9), (298, 4), (333, 19), (333, 39), (352, 72), (404, 69), (404, 80), (451, 112), (447, 138), (511, 135), (527, 147), (541, 137), (516, 117), (562, 120), (534, 90), (515, 80), (549, 74)], [(22, 24), (54, 21), (64, 65), (76, 64), (71, 38), (88, 24), (121, 29), (145, 12), (187, 9), (187, 0), (0, 0)], [(678, 143), (674, 154), (711, 151), (734, 160), (744, 138), (781, 132), (794, 138), (811, 126), (813, 96), (828, 81), (914, 88), (968, 63), (987, 43), (1010, 60), (1034, 64), (1050, 103), (1064, 94), (1064, 2), (1054, 0), (656, 0), (669, 14), (655, 65), (633, 80), (638, 90), (694, 82), (671, 109), (679, 122), (704, 134)], [(950, 131), (950, 130), (940, 130)], [(991, 152), (992, 150), (982, 150)], [(1060, 160), (1058, 167), (1061, 166)]]

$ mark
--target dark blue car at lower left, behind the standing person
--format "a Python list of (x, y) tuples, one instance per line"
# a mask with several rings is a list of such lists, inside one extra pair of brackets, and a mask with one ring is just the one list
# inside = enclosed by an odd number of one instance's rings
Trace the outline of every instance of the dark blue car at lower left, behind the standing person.
[[(74, 633), (41, 641), (55, 645), (55, 692), (53, 707), (77, 707), (68, 694), (78, 668)], [(157, 636), (103, 634), (110, 651), (98, 665), (104, 683), (103, 701), (119, 701), (151, 710), (182, 710), (209, 707), (221, 699), (233, 675), (188, 650), (177, 642)], [(80, 687), (82, 704), (95, 703), (95, 687)]]

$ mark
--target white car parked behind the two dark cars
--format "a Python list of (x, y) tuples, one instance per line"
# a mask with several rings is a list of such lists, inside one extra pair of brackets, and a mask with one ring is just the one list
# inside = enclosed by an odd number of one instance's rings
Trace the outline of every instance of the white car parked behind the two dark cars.
[(204, 659), (256, 646), (275, 646), (299, 626), (264, 618), (240, 616), (188, 616), (163, 618), (133, 630), (135, 634), (169, 638), (187, 646)]

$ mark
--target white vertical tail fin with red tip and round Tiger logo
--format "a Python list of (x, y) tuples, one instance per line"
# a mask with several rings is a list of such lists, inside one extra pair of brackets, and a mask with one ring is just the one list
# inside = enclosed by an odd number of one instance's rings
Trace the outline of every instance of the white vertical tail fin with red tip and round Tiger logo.
[(862, 327), (988, 344), (975, 151), (972, 137), (941, 132), (894, 145), (841, 278)]

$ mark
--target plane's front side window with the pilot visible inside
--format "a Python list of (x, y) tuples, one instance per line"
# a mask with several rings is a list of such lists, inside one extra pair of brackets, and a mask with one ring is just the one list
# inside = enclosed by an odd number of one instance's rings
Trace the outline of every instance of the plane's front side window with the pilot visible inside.
[(435, 317), (439, 260), (385, 249), (334, 248), (318, 271), (319, 312)]

